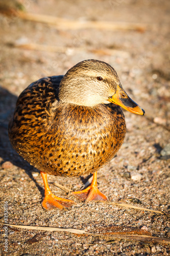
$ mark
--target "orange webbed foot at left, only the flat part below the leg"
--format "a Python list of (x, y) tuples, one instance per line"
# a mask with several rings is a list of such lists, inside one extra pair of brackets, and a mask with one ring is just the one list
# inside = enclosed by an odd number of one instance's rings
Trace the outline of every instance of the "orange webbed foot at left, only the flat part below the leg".
[(65, 209), (71, 207), (75, 202), (72, 200), (56, 197), (53, 193), (45, 195), (42, 206), (47, 209)]

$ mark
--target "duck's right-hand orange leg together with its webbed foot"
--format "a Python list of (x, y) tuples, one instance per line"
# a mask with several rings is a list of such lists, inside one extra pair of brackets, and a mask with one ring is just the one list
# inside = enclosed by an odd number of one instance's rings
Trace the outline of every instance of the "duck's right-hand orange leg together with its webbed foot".
[(88, 186), (87, 188), (80, 190), (80, 191), (75, 191), (71, 193), (73, 196), (78, 198), (81, 201), (107, 201), (107, 197), (101, 193), (98, 189), (98, 184), (97, 184), (97, 172), (93, 174), (93, 179), (91, 182), (91, 185)]

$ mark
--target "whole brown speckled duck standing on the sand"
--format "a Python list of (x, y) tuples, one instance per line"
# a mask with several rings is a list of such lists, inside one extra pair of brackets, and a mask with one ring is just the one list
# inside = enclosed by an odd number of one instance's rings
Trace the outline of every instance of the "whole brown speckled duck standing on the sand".
[(19, 95), (9, 139), (14, 150), (40, 170), (45, 209), (66, 209), (75, 203), (54, 195), (47, 175), (93, 174), (91, 184), (72, 196), (86, 202), (107, 200), (98, 189), (97, 172), (123, 144), (122, 108), (145, 114), (125, 92), (116, 71), (95, 59), (77, 63), (65, 75), (43, 77)]

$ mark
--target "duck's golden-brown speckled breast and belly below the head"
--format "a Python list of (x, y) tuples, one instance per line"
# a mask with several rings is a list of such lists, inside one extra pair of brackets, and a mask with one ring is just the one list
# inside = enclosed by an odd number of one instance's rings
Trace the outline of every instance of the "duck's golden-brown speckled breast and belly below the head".
[(35, 157), (35, 165), (60, 176), (94, 173), (115, 156), (125, 133), (125, 118), (117, 106), (61, 103), (48, 131), (38, 139), (41, 161)]

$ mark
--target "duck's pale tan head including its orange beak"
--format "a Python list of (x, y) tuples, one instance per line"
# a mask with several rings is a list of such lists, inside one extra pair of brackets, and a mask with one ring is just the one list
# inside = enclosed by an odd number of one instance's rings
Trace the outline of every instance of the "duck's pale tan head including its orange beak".
[(106, 62), (88, 59), (67, 71), (60, 82), (59, 99), (84, 106), (110, 102), (139, 115), (140, 108), (125, 92), (116, 71)]

